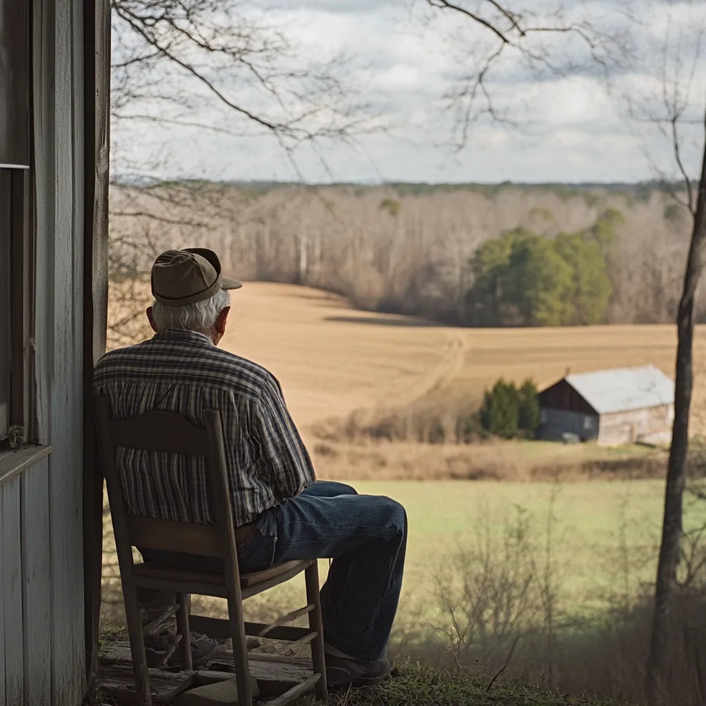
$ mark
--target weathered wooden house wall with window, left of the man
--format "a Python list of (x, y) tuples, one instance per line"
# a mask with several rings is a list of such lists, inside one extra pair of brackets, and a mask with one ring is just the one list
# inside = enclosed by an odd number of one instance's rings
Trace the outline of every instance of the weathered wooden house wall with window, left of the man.
[(97, 662), (108, 0), (0, 0), (0, 706), (79, 706)]

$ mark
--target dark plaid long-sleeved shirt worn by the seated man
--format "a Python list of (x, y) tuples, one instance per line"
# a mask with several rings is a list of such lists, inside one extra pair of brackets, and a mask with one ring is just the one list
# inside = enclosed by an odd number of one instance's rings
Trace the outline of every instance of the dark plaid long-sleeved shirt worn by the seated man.
[[(115, 417), (160, 410), (205, 426), (221, 413), (236, 526), (296, 496), (314, 480), (311, 459), (277, 379), (193, 331), (164, 331), (105, 354), (93, 390)], [(143, 517), (215, 524), (205, 459), (117, 449), (128, 511)]]

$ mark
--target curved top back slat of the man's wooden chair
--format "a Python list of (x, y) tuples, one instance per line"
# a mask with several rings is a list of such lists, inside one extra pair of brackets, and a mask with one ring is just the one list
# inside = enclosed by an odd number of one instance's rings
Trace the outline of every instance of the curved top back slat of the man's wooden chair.
[(145, 412), (130, 419), (110, 419), (113, 445), (140, 451), (208, 456), (208, 432), (176, 412)]

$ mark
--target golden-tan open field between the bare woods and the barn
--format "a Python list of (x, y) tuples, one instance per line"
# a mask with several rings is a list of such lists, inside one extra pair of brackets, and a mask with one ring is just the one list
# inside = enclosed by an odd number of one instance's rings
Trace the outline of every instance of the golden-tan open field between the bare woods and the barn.
[[(480, 397), (498, 377), (542, 387), (568, 369), (654, 364), (674, 374), (673, 326), (462, 329), (354, 311), (304, 287), (249, 282), (234, 292), (222, 345), (270, 368), (304, 433), (361, 407)], [(706, 328), (695, 352), (693, 431), (706, 429)]]

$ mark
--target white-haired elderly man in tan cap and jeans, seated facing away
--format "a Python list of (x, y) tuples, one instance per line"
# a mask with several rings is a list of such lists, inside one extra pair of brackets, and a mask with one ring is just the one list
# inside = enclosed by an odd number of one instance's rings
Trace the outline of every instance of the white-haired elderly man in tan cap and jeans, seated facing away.
[[(95, 393), (105, 395), (112, 414), (121, 418), (159, 409), (203, 424), (206, 409), (220, 411), (241, 570), (333, 558), (321, 588), (328, 681), (332, 686), (382, 681), (390, 673), (385, 647), (402, 585), (405, 510), (390, 498), (316, 481), (277, 379), (217, 347), (230, 310), (228, 290), (239, 287), (222, 276), (213, 251), (162, 253), (152, 267), (155, 301), (147, 310), (156, 333), (105, 354), (95, 369)], [(131, 513), (215, 522), (203, 460), (175, 454), (155, 464), (149, 453), (120, 452)], [(203, 557), (148, 549), (142, 554), (173, 566), (219, 570)], [(173, 601), (160, 592), (141, 593), (145, 624)], [(146, 640), (151, 664), (174, 664), (173, 635), (172, 619)], [(195, 664), (206, 661), (216, 646), (195, 635)]]

